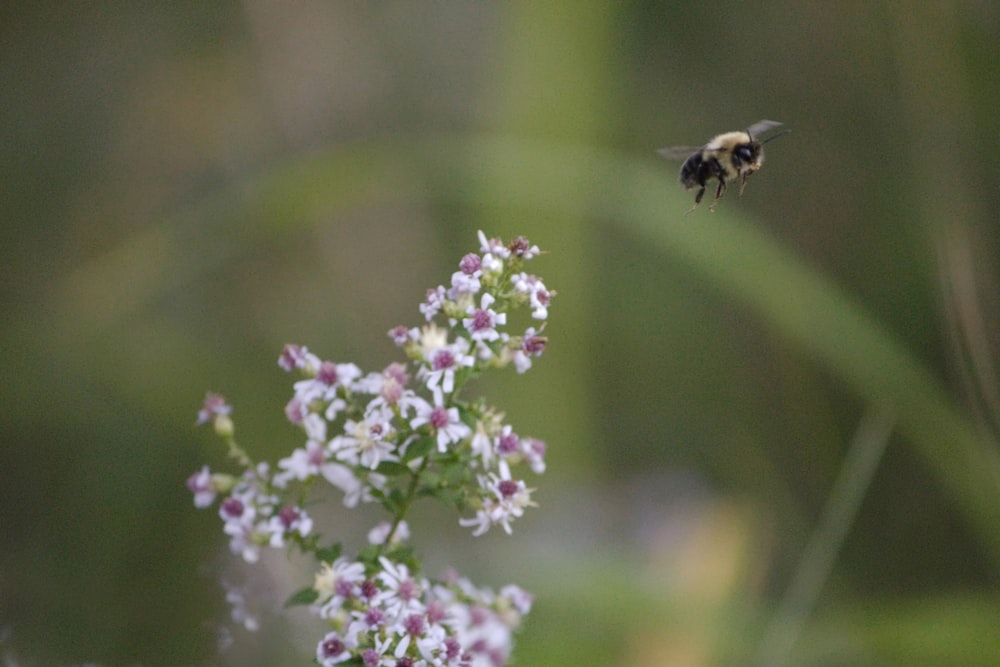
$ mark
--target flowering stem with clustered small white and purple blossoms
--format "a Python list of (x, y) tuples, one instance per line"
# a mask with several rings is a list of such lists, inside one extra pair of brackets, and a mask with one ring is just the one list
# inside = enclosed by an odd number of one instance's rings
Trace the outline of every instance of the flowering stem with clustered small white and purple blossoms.
[[(427, 324), (389, 332), (415, 367), (414, 386), (401, 363), (365, 374), (354, 364), (285, 346), (279, 365), (302, 376), (285, 414), (305, 433), (305, 444), (276, 468), (254, 463), (236, 444), (232, 408), (223, 397), (208, 394), (199, 413), (198, 423), (213, 424), (242, 473), (202, 468), (188, 480), (195, 505), (209, 507), (221, 497), (230, 549), (248, 563), (266, 547), (315, 556), (315, 582), (289, 603), (308, 605), (329, 623), (316, 645), (324, 667), (497, 667), (506, 664), (512, 633), (531, 608), (531, 595), (517, 586), (497, 593), (456, 574), (423, 576), (408, 544), (407, 512), (423, 497), (468, 515), (459, 523), (473, 535), (493, 526), (510, 533), (511, 523), (534, 505), (533, 489), (515, 468), (545, 470), (544, 443), (519, 437), (482, 400), (459, 398), (487, 369), (513, 364), (523, 373), (531, 367), (545, 350), (541, 329), (554, 295), (523, 271), (539, 254), (537, 246), (523, 237), (505, 245), (482, 232), (479, 242), (478, 253), (462, 258), (450, 287), (427, 292), (420, 305)], [(541, 324), (513, 336), (507, 314), (522, 306)], [(313, 530), (306, 505), (323, 485), (341, 492), (347, 507), (377, 503), (389, 515), (353, 557)]]

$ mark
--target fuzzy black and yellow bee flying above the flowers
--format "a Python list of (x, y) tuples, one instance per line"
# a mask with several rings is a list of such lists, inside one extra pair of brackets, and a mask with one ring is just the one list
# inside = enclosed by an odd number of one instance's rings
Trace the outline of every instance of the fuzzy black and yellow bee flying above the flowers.
[[(698, 188), (694, 206), (688, 213), (698, 208), (701, 198), (705, 196), (705, 188), (712, 179), (718, 180), (719, 185), (715, 189), (712, 204), (708, 207), (710, 211), (715, 210), (719, 199), (725, 194), (726, 181), (739, 179), (742, 197), (750, 174), (760, 169), (764, 162), (764, 144), (791, 132), (782, 130), (775, 133), (781, 125), (773, 120), (762, 120), (743, 132), (720, 134), (701, 148), (675, 146), (658, 150), (657, 153), (667, 159), (684, 159), (684, 164), (681, 165), (681, 185), (685, 190)], [(765, 136), (767, 138), (761, 141)]]

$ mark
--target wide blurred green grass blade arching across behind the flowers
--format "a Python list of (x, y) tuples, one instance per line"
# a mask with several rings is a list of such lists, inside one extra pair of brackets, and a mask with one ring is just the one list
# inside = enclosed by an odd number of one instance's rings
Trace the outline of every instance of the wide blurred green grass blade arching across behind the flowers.
[[(690, 197), (673, 180), (652, 148), (648, 156), (635, 158), (495, 135), (359, 142), (275, 169), (238, 193), (224, 193), (201, 210), (161, 222), (146, 236), (169, 252), (140, 253), (150, 245), (141, 236), (124, 241), (71, 275), (55, 302), (43, 304), (43, 315), (55, 313), (73, 323), (67, 330), (90, 329), (93, 334), (152, 301), (157, 291), (187, 284), (229, 260), (199, 248), (230, 247), (237, 240), (246, 246), (264, 243), (277, 227), (281, 233), (294, 233), (366, 202), (428, 197), (473, 208), (530, 212), (536, 219), (584, 211), (593, 224), (618, 226), (672, 261), (686, 264), (861, 400), (890, 410), (898, 432), (937, 475), (1000, 567), (1000, 461), (995, 443), (984, 442), (940, 381), (836, 284), (752, 222), (733, 217), (740, 210), (735, 206), (684, 217)], [(583, 206), (581, 193), (586, 197)], [(521, 227), (532, 234), (530, 218)], [(583, 227), (578, 233), (590, 232)], [(109, 264), (114, 271), (107, 270)], [(164, 279), (133, 276), (136, 267), (143, 275)], [(128, 299), (94, 308), (86, 298), (116, 294), (121, 285), (131, 286)]]

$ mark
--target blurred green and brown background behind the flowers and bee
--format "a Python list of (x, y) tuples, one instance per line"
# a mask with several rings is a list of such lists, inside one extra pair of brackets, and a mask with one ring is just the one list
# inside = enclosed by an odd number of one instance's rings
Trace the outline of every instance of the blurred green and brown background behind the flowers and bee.
[[(558, 292), (475, 388), (548, 442), (541, 507), (414, 538), (536, 594), (517, 664), (1000, 664), (998, 35), (982, 1), (5, 4), (0, 655), (310, 664), (295, 614), (219, 647), (200, 401), (277, 460), (281, 346), (383, 368), (483, 229)], [(655, 149), (762, 118), (793, 133), (743, 199), (684, 216)]]

